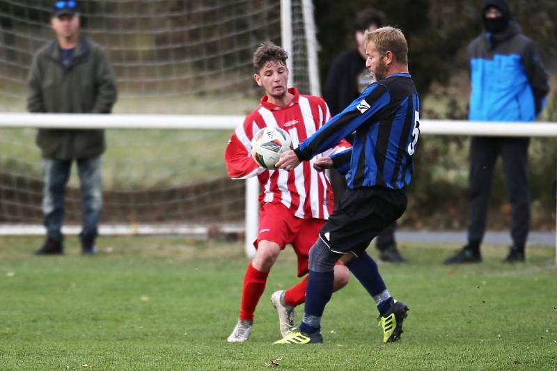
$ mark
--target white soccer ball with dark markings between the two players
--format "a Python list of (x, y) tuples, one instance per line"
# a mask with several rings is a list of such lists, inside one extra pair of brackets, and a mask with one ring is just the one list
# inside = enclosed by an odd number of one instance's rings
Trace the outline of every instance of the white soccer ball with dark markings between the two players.
[(284, 129), (280, 127), (263, 127), (251, 140), (251, 156), (256, 162), (271, 170), (276, 170), (274, 166), (281, 154), (292, 148), (292, 139)]

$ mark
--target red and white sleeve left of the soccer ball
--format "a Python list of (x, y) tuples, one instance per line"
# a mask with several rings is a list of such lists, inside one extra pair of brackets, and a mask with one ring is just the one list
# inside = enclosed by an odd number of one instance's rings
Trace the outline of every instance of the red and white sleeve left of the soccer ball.
[(251, 157), (251, 137), (253, 132), (252, 115), (246, 117), (244, 125), (237, 127), (234, 134), (230, 136), (230, 140), (224, 150), (224, 159), (226, 161), (226, 171), (232, 179), (246, 179), (259, 175), (264, 168), (260, 167)]

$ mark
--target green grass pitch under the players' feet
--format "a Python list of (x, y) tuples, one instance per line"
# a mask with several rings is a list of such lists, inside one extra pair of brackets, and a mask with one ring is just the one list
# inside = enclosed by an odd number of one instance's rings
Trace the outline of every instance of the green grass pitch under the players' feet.
[[(380, 342), (377, 313), (355, 279), (334, 294), (323, 345), (278, 339), (274, 290), (295, 283), (287, 249), (269, 276), (250, 341), (228, 344), (246, 266), (241, 244), (179, 237), (100, 237), (100, 254), (35, 257), (40, 237), (0, 240), (0, 370), (554, 370), (554, 248), (524, 265), (444, 267), (457, 246), (407, 244), (408, 265), (381, 265), (410, 307), (397, 343)], [(372, 255), (375, 250), (370, 248)], [(300, 308), (301, 309), (301, 308)]]

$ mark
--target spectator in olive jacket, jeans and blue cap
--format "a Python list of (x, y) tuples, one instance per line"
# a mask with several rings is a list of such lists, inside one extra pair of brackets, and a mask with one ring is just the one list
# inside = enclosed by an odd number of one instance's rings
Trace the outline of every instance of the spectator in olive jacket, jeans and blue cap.
[[(99, 45), (79, 35), (75, 1), (56, 1), (51, 26), (56, 40), (33, 57), (27, 109), (32, 113), (110, 113), (116, 102), (116, 81), (109, 58)], [(37, 144), (44, 162), (42, 210), (47, 238), (36, 254), (63, 253), (61, 232), (65, 187), (72, 161), (81, 184), (83, 227), (81, 253), (96, 252), (97, 222), (102, 209), (100, 156), (103, 130), (39, 129)]]

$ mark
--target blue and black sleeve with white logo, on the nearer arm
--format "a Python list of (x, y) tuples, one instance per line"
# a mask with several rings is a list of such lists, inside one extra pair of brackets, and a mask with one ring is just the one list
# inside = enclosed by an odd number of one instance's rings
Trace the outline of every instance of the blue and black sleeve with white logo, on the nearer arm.
[(346, 138), (375, 113), (389, 104), (389, 90), (381, 84), (371, 84), (344, 111), (331, 118), (294, 150), (300, 161), (308, 161), (315, 155), (331, 148), (340, 139)]

